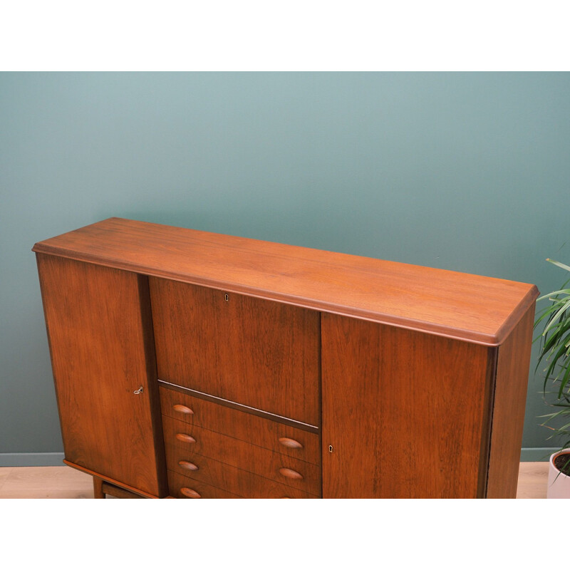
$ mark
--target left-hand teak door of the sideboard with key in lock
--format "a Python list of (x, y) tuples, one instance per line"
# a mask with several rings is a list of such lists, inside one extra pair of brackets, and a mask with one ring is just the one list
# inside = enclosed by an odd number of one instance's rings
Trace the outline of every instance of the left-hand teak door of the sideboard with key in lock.
[(147, 278), (45, 254), (37, 259), (66, 460), (164, 494)]

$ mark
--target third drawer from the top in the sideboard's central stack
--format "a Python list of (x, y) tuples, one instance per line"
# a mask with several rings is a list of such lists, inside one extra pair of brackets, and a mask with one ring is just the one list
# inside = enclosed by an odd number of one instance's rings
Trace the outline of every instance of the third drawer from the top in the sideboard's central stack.
[[(318, 499), (321, 491), (310, 493), (279, 481), (266, 479), (249, 471), (204, 457), (178, 454), (175, 447), (166, 446), (167, 467), (188, 480), (203, 482), (245, 499)], [(198, 492), (199, 490), (196, 489)]]

